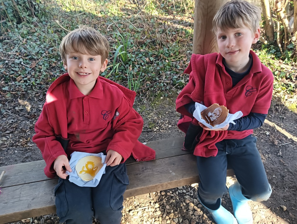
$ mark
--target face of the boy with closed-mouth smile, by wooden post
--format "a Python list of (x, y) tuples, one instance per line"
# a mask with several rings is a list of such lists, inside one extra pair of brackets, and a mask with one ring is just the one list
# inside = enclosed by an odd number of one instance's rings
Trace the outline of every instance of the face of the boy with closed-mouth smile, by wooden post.
[[(242, 28), (228, 28), (217, 30), (219, 52), (225, 58), (230, 69), (240, 70), (249, 62), (249, 50), (260, 37), (260, 28), (255, 33), (244, 26)], [(233, 70), (234, 71), (234, 70)]]

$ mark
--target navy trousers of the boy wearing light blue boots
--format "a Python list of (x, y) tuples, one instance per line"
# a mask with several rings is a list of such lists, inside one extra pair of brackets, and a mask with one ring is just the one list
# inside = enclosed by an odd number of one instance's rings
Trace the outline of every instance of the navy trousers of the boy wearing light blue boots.
[(257, 138), (252, 135), (240, 140), (225, 139), (216, 143), (217, 156), (196, 156), (201, 181), (198, 194), (207, 208), (218, 209), (220, 199), (228, 192), (227, 164), (234, 170), (246, 198), (263, 201), (270, 197), (271, 187), (256, 142)]

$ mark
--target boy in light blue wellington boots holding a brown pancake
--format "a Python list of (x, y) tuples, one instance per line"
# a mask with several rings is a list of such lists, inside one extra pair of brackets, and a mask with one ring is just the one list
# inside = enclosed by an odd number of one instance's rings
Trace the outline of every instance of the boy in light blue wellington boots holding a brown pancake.
[[(186, 133), (184, 147), (197, 157), (200, 183), (198, 198), (215, 222), (253, 223), (247, 201), (267, 200), (271, 195), (253, 129), (260, 127), (270, 107), (273, 75), (250, 50), (260, 37), (261, 11), (247, 1), (229, 1), (217, 12), (213, 30), (219, 54), (192, 55), (184, 73), (189, 83), (176, 100), (182, 114), (178, 127)], [(243, 116), (221, 129), (208, 129), (193, 117), (195, 102), (224, 105), (229, 113)], [(226, 187), (226, 171), (236, 181)], [(233, 214), (221, 205), (229, 191)]]

